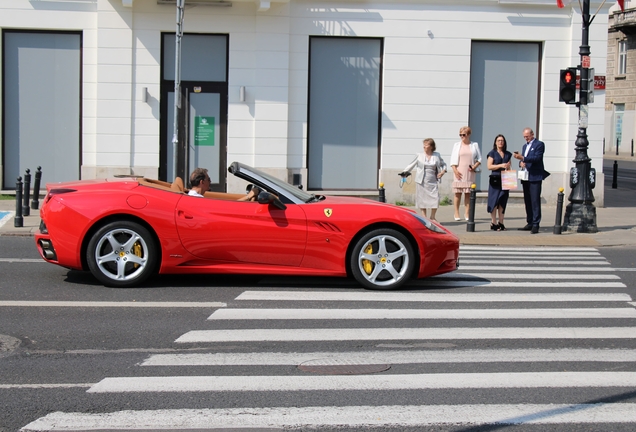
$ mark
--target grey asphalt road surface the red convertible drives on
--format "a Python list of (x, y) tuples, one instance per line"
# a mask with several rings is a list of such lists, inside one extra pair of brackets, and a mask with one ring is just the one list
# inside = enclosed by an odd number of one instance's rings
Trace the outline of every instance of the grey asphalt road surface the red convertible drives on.
[[(164, 276), (152, 280), (148, 285), (138, 289), (110, 289), (98, 285), (89, 275), (81, 272), (68, 271), (63, 268), (40, 262), (30, 238), (0, 237), (0, 431), (16, 431), (32, 421), (42, 418), (53, 412), (63, 413), (99, 413), (126, 412), (127, 410), (141, 411), (152, 410), (159, 413), (167, 409), (197, 409), (200, 414), (207, 409), (234, 409), (234, 408), (267, 408), (277, 407), (294, 410), (297, 407), (366, 407), (364, 412), (373, 414), (383, 407), (393, 406), (425, 406), (435, 409), (443, 405), (451, 407), (464, 407), (475, 404), (482, 407), (484, 404), (508, 404), (523, 405), (537, 404), (537, 406), (551, 406), (547, 404), (584, 404), (607, 403), (612, 406), (631, 406), (626, 404), (636, 403), (636, 385), (622, 386), (594, 386), (578, 385), (574, 387), (550, 386), (537, 388), (516, 388), (514, 385), (504, 385), (502, 388), (494, 388), (486, 385), (464, 387), (462, 383), (446, 385), (445, 380), (439, 388), (397, 388), (394, 390), (376, 389), (323, 389), (323, 390), (296, 390), (296, 391), (243, 391), (232, 387), (240, 381), (247, 387), (257, 385), (255, 377), (270, 377), (268, 385), (276, 386), (287, 383), (288, 379), (305, 379), (309, 377), (322, 377), (331, 379), (325, 373), (307, 373), (297, 368), (298, 364), (292, 361), (277, 364), (267, 363), (264, 359), (267, 353), (282, 353), (283, 358), (296, 356), (302, 358), (303, 353), (331, 353), (351, 360), (356, 355), (368, 356), (373, 353), (393, 353), (395, 357), (387, 361), (390, 368), (387, 371), (376, 374), (354, 374), (354, 386), (366, 382), (375, 377), (386, 377), (391, 383), (392, 379), (399, 376), (419, 377), (425, 374), (447, 374), (444, 377), (466, 379), (466, 375), (456, 374), (504, 374), (514, 381), (511, 373), (555, 373), (565, 372), (589, 373), (597, 372), (625, 372), (636, 373), (635, 361), (620, 361), (617, 359), (603, 361), (585, 361), (584, 358), (570, 358), (562, 361), (518, 361), (498, 360), (468, 362), (458, 361), (460, 355), (475, 352), (493, 353), (495, 357), (506, 355), (510, 350), (530, 350), (532, 352), (545, 353), (546, 356), (554, 355), (559, 350), (592, 350), (596, 353), (607, 352), (608, 349), (620, 349), (621, 352), (630, 352), (636, 355), (635, 338), (564, 338), (553, 339), (540, 338), (457, 338), (453, 331), (459, 329), (478, 329), (477, 334), (485, 327), (497, 327), (501, 331), (520, 327), (531, 327), (541, 331), (543, 328), (584, 328), (584, 333), (593, 333), (599, 327), (634, 328), (634, 319), (631, 316), (618, 318), (593, 318), (595, 309), (608, 308), (610, 312), (618, 309), (627, 310), (630, 306), (624, 301), (541, 301), (541, 302), (506, 302), (498, 301), (499, 295), (537, 293), (554, 294), (566, 293), (570, 295), (581, 294), (610, 294), (629, 295), (631, 301), (636, 299), (636, 248), (603, 248), (599, 257), (589, 259), (593, 261), (588, 265), (580, 265), (573, 261), (572, 253), (559, 255), (561, 258), (550, 258), (571, 270), (552, 271), (552, 264), (536, 264), (547, 266), (542, 272), (534, 272), (528, 281), (523, 281), (522, 270), (512, 269), (512, 264), (506, 264), (507, 255), (514, 253), (533, 254), (525, 250), (522, 252), (498, 252), (487, 249), (471, 251), (463, 249), (460, 257), (464, 263), (471, 259), (476, 260), (476, 270), (481, 276), (471, 276), (463, 279), (461, 275), (454, 275), (446, 279), (436, 279), (431, 282), (418, 282), (411, 284), (407, 290), (389, 293), (391, 296), (405, 296), (401, 301), (368, 301), (363, 297), (369, 294), (358, 288), (352, 281), (329, 278), (275, 278), (275, 277), (221, 277), (221, 276)], [(503, 253), (497, 258), (497, 262), (491, 258), (490, 264), (494, 269), (488, 270), (489, 264), (480, 264), (479, 258), (489, 254)], [(589, 252), (585, 252), (587, 254)], [(472, 255), (472, 257), (471, 257)], [(496, 255), (494, 255), (496, 256)], [(537, 258), (539, 259), (539, 258)], [(578, 259), (578, 258), (577, 258)], [(588, 259), (583, 257), (581, 259)], [(595, 272), (590, 267), (597, 267), (598, 262), (603, 264), (609, 261), (609, 272)], [(518, 264), (518, 259), (516, 260)], [(607, 263), (606, 263), (607, 264)], [(516, 265), (516, 264), (515, 264)], [(535, 264), (528, 263), (529, 266)], [(510, 268), (509, 268), (510, 267)], [(583, 270), (578, 269), (583, 267)], [(470, 270), (470, 264), (464, 268)], [(603, 267), (600, 267), (603, 269)], [(534, 270), (533, 270), (534, 271)], [(580, 273), (590, 272), (590, 276)], [(554, 273), (555, 275), (545, 275)], [(494, 276), (486, 277), (486, 274)], [(548, 276), (547, 282), (539, 285), (541, 276)], [(564, 279), (559, 280), (559, 274)], [(497, 276), (499, 275), (499, 276)], [(594, 277), (609, 275), (614, 279), (609, 282), (595, 282)], [(521, 278), (521, 279), (519, 279)], [(467, 282), (468, 281), (468, 282)], [(499, 283), (499, 285), (497, 285)], [(605, 286), (603, 284), (609, 283)], [(435, 284), (440, 284), (439, 286)], [(258, 292), (264, 296), (273, 292), (284, 291), (295, 294), (304, 293), (307, 298), (296, 300), (272, 301), (267, 299), (241, 300), (239, 296), (245, 292)], [(309, 293), (308, 293), (309, 292)], [(348, 294), (354, 296), (350, 301), (338, 301), (328, 299), (309, 298), (311, 293), (321, 292), (327, 295)], [(373, 294), (373, 293), (372, 293)], [(461, 300), (449, 302), (414, 302), (411, 297), (419, 294), (445, 295), (471, 295), (492, 294), (495, 300), (484, 300), (465, 303)], [(391, 299), (394, 300), (394, 299)], [(23, 303), (21, 305), (10, 304), (11, 301), (36, 302)], [(50, 302), (71, 302), (53, 305)], [(78, 304), (77, 302), (88, 302)], [(114, 302), (109, 307), (104, 302)], [(144, 302), (156, 302), (152, 307), (135, 307)], [(190, 302), (193, 304), (184, 305)], [(225, 303), (225, 307), (210, 306), (209, 303)], [(160, 306), (160, 307), (159, 307)], [(184, 307), (185, 306), (185, 307)], [(320, 313), (342, 312), (351, 314), (351, 318), (331, 319), (292, 319), (283, 320), (275, 313), (274, 318), (255, 320), (250, 315), (263, 313), (270, 308), (317, 309)], [(579, 308), (587, 312), (578, 317), (562, 317), (547, 319), (534, 318), (508, 318), (508, 319), (467, 319), (454, 317), (454, 313), (473, 313), (474, 310), (487, 310), (485, 313), (499, 313), (513, 308), (535, 309), (540, 308), (542, 313), (550, 313), (550, 309), (564, 309), (564, 313)], [(247, 315), (240, 319), (208, 320), (215, 311), (247, 309)], [(424, 312), (430, 310), (450, 310), (443, 314), (448, 316), (433, 319), (429, 318), (375, 318), (354, 319), (356, 311), (360, 309), (379, 309), (382, 311), (394, 311), (402, 309), (417, 309)], [(250, 312), (251, 310), (251, 312)], [(489, 312), (490, 311), (490, 312)], [(494, 312), (493, 312), (494, 311)], [(547, 312), (545, 312), (547, 311)], [(280, 313), (280, 312), (279, 312)], [(301, 312), (302, 313), (302, 312)], [(370, 312), (364, 312), (370, 313)], [(364, 314), (363, 313), (363, 314)], [(521, 314), (523, 311), (515, 313)], [(590, 316), (588, 316), (588, 314)], [(254, 341), (241, 341), (228, 339), (219, 342), (195, 341), (190, 343), (176, 342), (184, 335), (192, 335), (192, 331), (206, 332), (208, 330), (233, 331), (248, 330), (250, 332), (276, 332), (281, 330), (282, 337), (295, 334), (302, 329), (313, 329), (312, 332), (328, 332), (335, 330), (335, 334), (343, 334), (344, 329), (355, 331), (362, 329), (360, 339), (333, 340), (329, 338), (317, 338), (310, 340), (283, 341), (275, 338), (257, 337)], [(383, 331), (391, 328), (400, 328), (402, 331), (417, 331), (426, 328), (427, 333), (415, 339), (392, 340), (381, 335)], [(365, 329), (368, 329), (365, 331)], [(432, 334), (437, 331), (451, 329), (452, 336), (435, 339)], [(455, 330), (452, 330), (455, 329)], [(464, 331), (464, 330), (461, 330)], [(486, 331), (486, 330), (484, 330)], [(375, 334), (377, 332), (377, 339)], [(372, 336), (367, 334), (372, 333)], [(430, 333), (430, 335), (429, 335)], [(333, 337), (333, 336), (332, 336)], [(390, 339), (390, 340), (389, 340)], [(16, 344), (19, 345), (16, 346)], [(537, 351), (548, 350), (548, 351)], [(516, 351), (515, 351), (516, 352)], [(572, 351), (575, 352), (575, 351)], [(398, 358), (409, 353), (416, 353), (416, 357), (425, 357), (432, 354), (443, 356), (441, 360), (419, 362), (418, 360), (399, 361)], [(419, 354), (418, 354), (419, 353)], [(447, 353), (447, 356), (445, 355)], [(169, 354), (218, 354), (222, 360), (220, 364), (199, 365), (163, 365), (143, 366), (152, 356)], [(233, 362), (230, 359), (237, 354), (251, 354), (256, 360), (252, 363)], [(585, 355), (583, 355), (585, 357)], [(300, 360), (296, 360), (300, 362)], [(355, 362), (354, 362), (355, 363)], [(341, 363), (339, 363), (341, 364)], [(324, 371), (323, 371), (324, 372)], [(176, 385), (185, 385), (186, 377), (232, 377), (223, 385), (230, 386), (225, 391), (217, 391), (216, 387), (210, 391), (92, 391), (95, 384), (107, 385), (107, 378), (147, 378), (147, 377), (177, 377)], [(458, 376), (460, 378), (458, 378)], [(473, 376), (473, 375), (471, 375)], [(489, 376), (489, 375), (479, 375)], [(499, 375), (497, 375), (499, 376)], [(587, 376), (587, 375), (585, 375)], [(630, 375), (631, 376), (631, 375)], [(245, 382), (238, 377), (247, 377)], [(463, 378), (462, 378), (463, 377)], [(169, 378), (165, 378), (166, 380)], [(450, 378), (449, 378), (450, 379)], [(540, 379), (537, 378), (537, 379)], [(631, 378), (630, 378), (631, 379)], [(205, 378), (197, 378), (195, 384), (205, 384)], [(322, 381), (321, 381), (322, 382)], [(130, 385), (136, 385), (131, 382)], [(221, 385), (214, 382), (213, 386)], [(408, 386), (407, 386), (408, 387)], [(558, 405), (561, 406), (561, 405)], [(571, 405), (569, 405), (571, 406)], [(578, 406), (578, 405), (577, 405)], [(580, 408), (577, 408), (580, 409)], [(239, 410), (241, 411), (241, 410)], [(585, 410), (577, 412), (578, 418), (583, 418)], [(242, 411), (241, 411), (242, 412)], [(542, 411), (544, 412), (544, 411)], [(233, 412), (233, 418), (240, 414)], [(194, 414), (193, 414), (194, 415)], [(273, 415), (273, 414), (272, 414)], [(292, 414), (287, 414), (288, 416)], [(324, 418), (329, 417), (324, 414)], [(351, 413), (349, 413), (351, 415)], [(386, 415), (386, 413), (384, 414)], [(476, 415), (476, 414), (475, 414)], [(552, 414), (550, 414), (552, 415)], [(376, 417), (382, 417), (376, 414)], [(400, 418), (406, 417), (403, 414)], [(174, 417), (170, 417), (171, 419)], [(370, 419), (374, 416), (371, 415)], [(247, 420), (246, 420), (247, 421)], [(591, 423), (582, 425), (577, 423), (559, 423), (546, 426), (523, 424), (512, 425), (431, 425), (423, 426), (388, 426), (380, 425), (373, 430), (400, 430), (400, 431), (544, 431), (546, 428), (554, 431), (581, 431), (581, 430), (634, 430), (634, 422), (612, 423), (611, 427), (605, 423)], [(319, 430), (368, 430), (369, 426), (350, 428), (345, 421), (341, 426), (320, 427)], [(257, 424), (258, 425), (258, 424)], [(134, 425), (137, 426), (137, 425)], [(202, 429), (219, 427), (219, 423), (207, 423)], [(248, 423), (242, 424), (246, 428)], [(181, 428), (175, 428), (181, 429)], [(121, 430), (121, 429), (120, 429)], [(129, 429), (126, 429), (129, 430)], [(218, 429), (217, 429), (218, 430)], [(259, 430), (257, 426), (243, 430)], [(303, 429), (304, 430), (304, 429)]]

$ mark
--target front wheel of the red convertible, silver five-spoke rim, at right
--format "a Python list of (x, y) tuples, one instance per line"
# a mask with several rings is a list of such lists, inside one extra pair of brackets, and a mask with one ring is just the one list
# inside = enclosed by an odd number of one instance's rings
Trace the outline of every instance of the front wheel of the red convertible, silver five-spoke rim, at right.
[(409, 280), (414, 266), (411, 243), (392, 229), (365, 234), (351, 255), (353, 277), (368, 289), (396, 289)]

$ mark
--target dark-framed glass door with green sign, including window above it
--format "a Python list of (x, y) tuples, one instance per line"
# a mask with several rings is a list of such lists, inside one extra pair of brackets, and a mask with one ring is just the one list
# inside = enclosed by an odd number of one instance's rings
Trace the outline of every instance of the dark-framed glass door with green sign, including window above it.
[(178, 176), (187, 184), (192, 170), (201, 167), (207, 168), (210, 174), (210, 190), (226, 190), (228, 46), (228, 35), (183, 35), (180, 57), (181, 104), (178, 136), (175, 137), (175, 35), (163, 34), (159, 151), (161, 180), (171, 182)]

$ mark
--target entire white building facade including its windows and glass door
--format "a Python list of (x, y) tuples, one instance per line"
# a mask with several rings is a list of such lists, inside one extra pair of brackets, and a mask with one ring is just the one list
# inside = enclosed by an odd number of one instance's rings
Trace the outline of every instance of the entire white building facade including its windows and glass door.
[[(590, 28), (597, 75), (610, 6)], [(427, 137), (449, 162), (470, 125), (484, 158), (479, 189), (495, 136), (520, 150), (531, 127), (552, 173), (544, 199), (560, 187), (567, 196), (578, 109), (558, 91), (559, 70), (580, 63), (576, 2), (186, 1), (178, 134), (176, 15), (164, 0), (0, 3), (4, 190), (37, 166), (47, 182), (171, 181), (204, 166), (217, 190), (236, 192), (226, 168), (240, 161), (310, 191), (377, 195), (382, 182), (389, 202), (412, 202), (397, 173)], [(604, 105), (596, 91), (587, 132), (599, 174)], [(597, 206), (602, 190), (599, 175)]]

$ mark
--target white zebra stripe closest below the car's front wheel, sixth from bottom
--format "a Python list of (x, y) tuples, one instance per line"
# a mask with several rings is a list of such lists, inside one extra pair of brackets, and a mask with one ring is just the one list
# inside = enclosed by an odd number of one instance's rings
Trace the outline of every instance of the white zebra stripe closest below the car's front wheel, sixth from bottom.
[(631, 302), (625, 293), (423, 293), (372, 291), (243, 291), (236, 300), (377, 302)]

